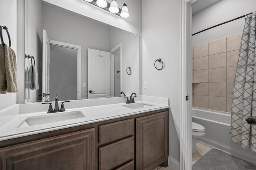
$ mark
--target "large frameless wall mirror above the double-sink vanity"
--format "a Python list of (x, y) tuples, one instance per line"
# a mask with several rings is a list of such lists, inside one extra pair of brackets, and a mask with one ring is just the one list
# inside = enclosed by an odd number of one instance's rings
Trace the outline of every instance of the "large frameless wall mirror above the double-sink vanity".
[(25, 54), (24, 103), (140, 94), (138, 35), (42, 0), (25, 1)]

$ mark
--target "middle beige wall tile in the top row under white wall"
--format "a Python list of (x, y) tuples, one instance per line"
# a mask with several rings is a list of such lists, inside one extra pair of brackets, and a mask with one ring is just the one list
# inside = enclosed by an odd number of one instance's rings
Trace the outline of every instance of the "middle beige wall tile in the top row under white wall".
[(209, 42), (209, 55), (226, 52), (226, 38)]

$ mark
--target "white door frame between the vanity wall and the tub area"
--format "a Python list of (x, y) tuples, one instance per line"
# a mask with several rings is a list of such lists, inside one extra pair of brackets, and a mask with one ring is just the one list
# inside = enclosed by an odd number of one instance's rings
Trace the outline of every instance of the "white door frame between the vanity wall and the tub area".
[[(197, 0), (181, 2), (181, 106), (180, 106), (180, 170), (192, 168), (192, 7)], [(186, 96), (189, 97), (186, 101)]]

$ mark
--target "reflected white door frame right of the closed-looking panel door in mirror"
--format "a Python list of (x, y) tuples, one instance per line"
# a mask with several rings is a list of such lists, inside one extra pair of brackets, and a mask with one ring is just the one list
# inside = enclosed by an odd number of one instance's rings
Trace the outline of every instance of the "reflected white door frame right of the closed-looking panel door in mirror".
[(120, 49), (120, 92), (123, 91), (123, 43), (110, 49), (110, 96), (114, 97), (114, 53)]

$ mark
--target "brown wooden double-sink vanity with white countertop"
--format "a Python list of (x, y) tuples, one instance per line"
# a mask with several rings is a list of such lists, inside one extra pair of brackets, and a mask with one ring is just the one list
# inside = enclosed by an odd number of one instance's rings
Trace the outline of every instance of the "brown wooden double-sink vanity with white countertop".
[[(153, 169), (161, 164), (167, 166), (169, 106), (148, 103), (145, 102), (147, 97), (141, 98), (142, 101), (129, 104), (128, 107), (124, 103), (117, 103), (79, 109), (85, 117), (90, 115), (83, 109), (94, 110), (95, 113), (98, 109), (102, 112), (98, 119), (94, 113), (92, 120), (68, 127), (63, 125), (56, 129), (54, 123), (48, 123), (53, 127), (46, 128), (44, 132), (36, 130), (40, 133), (30, 131), (24, 132), (30, 135), (7, 137), (9, 139), (0, 141), (0, 169), (142, 170)], [(103, 110), (106, 108), (112, 108), (112, 112), (119, 110), (120, 113), (104, 117), (106, 114)], [(4, 127), (0, 127), (0, 132), (1, 128)], [(27, 130), (33, 126), (22, 128)]]

